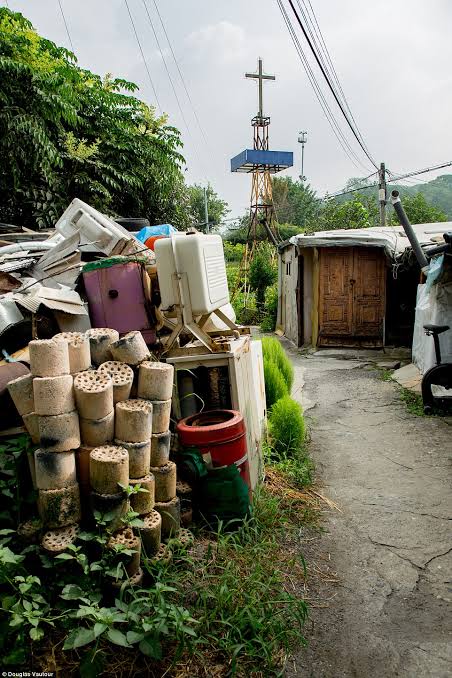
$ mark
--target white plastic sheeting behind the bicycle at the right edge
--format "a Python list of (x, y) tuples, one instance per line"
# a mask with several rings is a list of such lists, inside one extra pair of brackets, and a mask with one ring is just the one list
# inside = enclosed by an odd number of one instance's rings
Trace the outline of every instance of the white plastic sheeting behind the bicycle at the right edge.
[(422, 374), (436, 363), (433, 337), (427, 336), (424, 325), (449, 325), (439, 335), (442, 362), (452, 362), (452, 283), (418, 285), (413, 333), (413, 363)]

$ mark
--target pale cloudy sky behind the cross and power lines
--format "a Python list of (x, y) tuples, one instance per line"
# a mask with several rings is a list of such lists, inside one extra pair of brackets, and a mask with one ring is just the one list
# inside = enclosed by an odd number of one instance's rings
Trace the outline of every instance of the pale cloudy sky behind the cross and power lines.
[[(250, 118), (257, 112), (257, 88), (245, 80), (244, 73), (256, 69), (258, 56), (265, 70), (276, 75), (274, 83), (264, 86), (264, 108), (272, 121), (271, 148), (295, 153), (295, 167), (287, 173), (294, 177), (300, 173), (297, 135), (307, 130), (305, 174), (319, 195), (339, 190), (351, 176), (370, 174), (372, 166), (359, 147), (354, 144), (367, 171), (352, 164), (331, 131), (276, 0), (155, 2), (207, 141), (178, 77), (154, 0), (128, 0), (161, 107), (182, 132), (189, 182), (210, 181), (229, 202), (232, 216), (247, 207), (250, 178), (231, 174), (229, 160), (252, 143)], [(125, 0), (61, 3), (80, 64), (138, 83), (139, 96), (155, 103)], [(385, 161), (394, 172), (404, 172), (452, 159), (452, 2), (311, 3), (350, 108), (377, 161)], [(58, 0), (8, 0), (6, 4), (31, 19), (40, 34), (70, 47)], [(334, 112), (340, 120), (338, 109)], [(434, 176), (426, 175), (426, 179)]]

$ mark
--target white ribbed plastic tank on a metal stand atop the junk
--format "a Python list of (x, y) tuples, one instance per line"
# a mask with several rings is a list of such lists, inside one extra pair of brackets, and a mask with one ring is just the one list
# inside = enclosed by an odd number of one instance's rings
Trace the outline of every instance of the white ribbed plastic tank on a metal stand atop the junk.
[(223, 241), (219, 235), (178, 233), (155, 242), (162, 309), (178, 303), (175, 273), (186, 273), (193, 315), (211, 313), (229, 303)]

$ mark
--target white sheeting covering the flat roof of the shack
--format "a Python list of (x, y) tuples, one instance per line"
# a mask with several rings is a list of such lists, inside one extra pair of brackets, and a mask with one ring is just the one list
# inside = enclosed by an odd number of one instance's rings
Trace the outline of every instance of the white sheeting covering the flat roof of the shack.
[[(419, 243), (423, 247), (444, 244), (443, 233), (452, 230), (452, 221), (437, 224), (414, 224)], [(402, 226), (383, 228), (338, 229), (337, 231), (318, 231), (309, 235), (294, 235), (289, 241), (298, 247), (382, 247), (391, 259), (397, 259), (406, 249), (411, 249)]]

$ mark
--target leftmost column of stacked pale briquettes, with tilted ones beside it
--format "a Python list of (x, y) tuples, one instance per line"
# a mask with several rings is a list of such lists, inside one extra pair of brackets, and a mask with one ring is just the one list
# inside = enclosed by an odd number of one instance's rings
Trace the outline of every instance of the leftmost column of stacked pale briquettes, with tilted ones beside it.
[(83, 334), (69, 333), (31, 341), (29, 352), (31, 376), (10, 382), (8, 388), (32, 441), (40, 445), (30, 458), (30, 470), (39, 515), (48, 530), (43, 546), (58, 553), (75, 538), (81, 517), (73, 374), (90, 367), (89, 343)]

